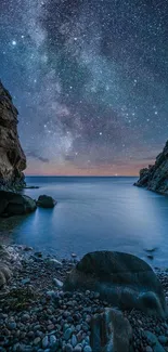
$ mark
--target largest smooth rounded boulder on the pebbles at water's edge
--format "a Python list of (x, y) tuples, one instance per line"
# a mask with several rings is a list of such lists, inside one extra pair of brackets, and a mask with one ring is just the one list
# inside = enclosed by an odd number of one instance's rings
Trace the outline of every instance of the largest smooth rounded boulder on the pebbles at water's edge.
[(64, 290), (93, 290), (121, 310), (139, 309), (147, 314), (167, 315), (161, 285), (142, 259), (113, 251), (86, 255), (68, 274)]

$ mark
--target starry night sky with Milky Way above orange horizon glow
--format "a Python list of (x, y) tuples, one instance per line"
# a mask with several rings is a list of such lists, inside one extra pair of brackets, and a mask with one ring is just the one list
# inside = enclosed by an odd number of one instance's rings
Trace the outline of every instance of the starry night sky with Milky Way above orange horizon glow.
[(0, 0), (28, 174), (138, 174), (168, 139), (168, 1)]

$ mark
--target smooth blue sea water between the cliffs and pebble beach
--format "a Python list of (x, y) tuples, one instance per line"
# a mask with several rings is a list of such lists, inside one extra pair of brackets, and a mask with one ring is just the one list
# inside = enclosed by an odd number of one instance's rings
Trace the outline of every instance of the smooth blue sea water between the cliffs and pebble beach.
[[(10, 229), (10, 240), (57, 258), (80, 258), (93, 250), (137, 255), (148, 263), (168, 266), (168, 197), (134, 187), (137, 178), (27, 177), (25, 194), (51, 195), (53, 209), (38, 208), (20, 217)], [(156, 250), (154, 259), (150, 252)]]

